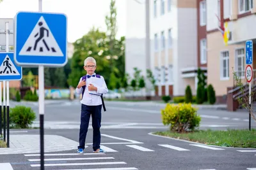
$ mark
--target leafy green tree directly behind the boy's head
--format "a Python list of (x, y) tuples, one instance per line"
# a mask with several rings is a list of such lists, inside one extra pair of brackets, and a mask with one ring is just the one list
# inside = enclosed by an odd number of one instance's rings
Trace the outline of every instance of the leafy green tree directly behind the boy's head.
[[(74, 43), (74, 55), (71, 62), (71, 73), (68, 75), (68, 85), (76, 87), (81, 76), (86, 74), (84, 71), (84, 59), (92, 56), (97, 62), (95, 73), (104, 76), (106, 84), (109, 85), (109, 60), (108, 60), (108, 41), (105, 32), (100, 32), (94, 27), (77, 39)], [(108, 86), (109, 87), (109, 86)]]

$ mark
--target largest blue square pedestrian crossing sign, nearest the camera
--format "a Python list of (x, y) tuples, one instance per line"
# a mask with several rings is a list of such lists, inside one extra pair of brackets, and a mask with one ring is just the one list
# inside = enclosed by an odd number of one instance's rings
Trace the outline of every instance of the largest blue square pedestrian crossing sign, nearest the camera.
[(19, 12), (14, 23), (14, 60), (17, 64), (64, 66), (67, 63), (66, 15)]

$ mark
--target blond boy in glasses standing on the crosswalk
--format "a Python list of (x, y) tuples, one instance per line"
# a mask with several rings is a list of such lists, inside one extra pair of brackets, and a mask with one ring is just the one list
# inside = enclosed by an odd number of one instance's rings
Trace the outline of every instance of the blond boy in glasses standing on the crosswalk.
[[(102, 100), (100, 96), (92, 94), (92, 91), (97, 94), (107, 94), (108, 87), (102, 76), (94, 73), (96, 69), (96, 60), (93, 57), (87, 57), (84, 60), (84, 70), (86, 70), (86, 81), (83, 77), (77, 85), (77, 94), (82, 94), (81, 99), (81, 124), (79, 132), (79, 146), (77, 147), (77, 153), (84, 153), (84, 145), (86, 134), (88, 131), (88, 125), (90, 121), (90, 115), (92, 114), (92, 127), (93, 127), (93, 152), (94, 153), (106, 153), (100, 148), (100, 123), (101, 123), (101, 108)], [(98, 85), (92, 84), (92, 79), (97, 80)], [(85, 86), (84, 92), (83, 88)]]

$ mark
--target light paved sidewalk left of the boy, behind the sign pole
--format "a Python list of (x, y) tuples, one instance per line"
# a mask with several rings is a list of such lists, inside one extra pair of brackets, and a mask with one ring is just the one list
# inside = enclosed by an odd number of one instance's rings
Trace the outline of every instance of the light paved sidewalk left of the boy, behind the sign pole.
[[(44, 152), (77, 150), (78, 142), (58, 135), (44, 135)], [(40, 135), (10, 135), (10, 148), (0, 148), (0, 155), (17, 153), (40, 153)]]

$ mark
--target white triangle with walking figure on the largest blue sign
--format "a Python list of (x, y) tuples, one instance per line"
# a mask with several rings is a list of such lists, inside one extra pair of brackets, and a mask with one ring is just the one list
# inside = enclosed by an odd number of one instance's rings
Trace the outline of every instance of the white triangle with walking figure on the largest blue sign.
[(39, 18), (19, 55), (63, 57), (60, 46), (52, 35), (44, 17)]

